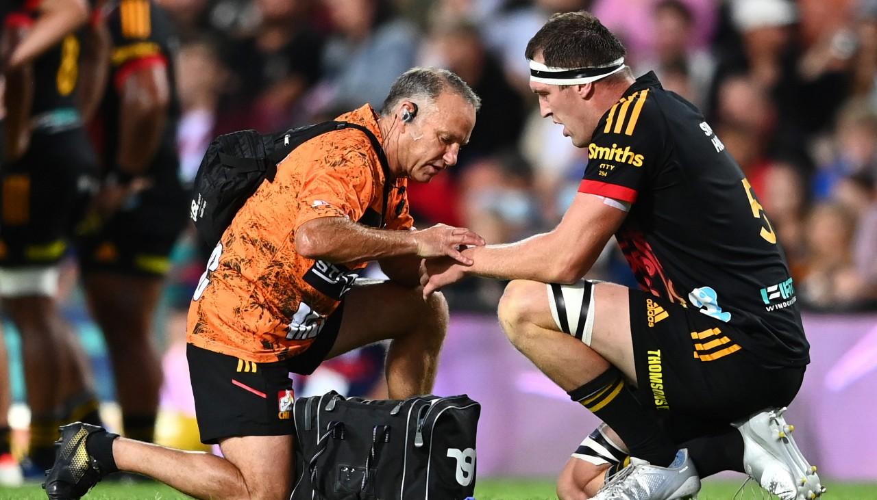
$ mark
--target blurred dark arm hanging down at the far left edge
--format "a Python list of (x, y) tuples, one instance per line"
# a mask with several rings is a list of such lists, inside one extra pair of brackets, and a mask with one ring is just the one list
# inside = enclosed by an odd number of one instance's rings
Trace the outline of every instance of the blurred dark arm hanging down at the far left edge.
[(20, 158), (31, 140), (31, 107), (33, 104), (33, 67), (28, 64), (9, 71), (6, 76), (4, 105), (6, 107), (6, 158)]

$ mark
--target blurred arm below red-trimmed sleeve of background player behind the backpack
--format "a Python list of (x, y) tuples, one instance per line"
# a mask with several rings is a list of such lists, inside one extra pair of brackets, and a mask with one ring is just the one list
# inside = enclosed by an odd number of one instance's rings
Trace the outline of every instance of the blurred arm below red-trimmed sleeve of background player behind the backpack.
[(148, 95), (127, 96), (119, 111), (116, 164), (130, 175), (143, 175), (152, 163), (168, 121), (168, 108)]

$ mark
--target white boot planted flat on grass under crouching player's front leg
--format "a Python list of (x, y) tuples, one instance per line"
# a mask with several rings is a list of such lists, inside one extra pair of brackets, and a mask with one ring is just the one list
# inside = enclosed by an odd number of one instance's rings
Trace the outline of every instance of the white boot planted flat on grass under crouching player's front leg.
[(667, 467), (631, 457), (631, 465), (607, 478), (593, 500), (676, 500), (694, 498), (700, 489), (695, 464), (683, 448)]

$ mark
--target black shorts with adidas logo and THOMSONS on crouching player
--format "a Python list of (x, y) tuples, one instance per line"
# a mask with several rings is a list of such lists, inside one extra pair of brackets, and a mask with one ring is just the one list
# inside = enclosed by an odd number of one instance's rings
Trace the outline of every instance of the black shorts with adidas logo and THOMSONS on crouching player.
[(788, 405), (804, 368), (770, 369), (738, 345), (728, 323), (630, 291), (638, 400), (661, 415), (677, 443), (718, 432), (771, 406)]

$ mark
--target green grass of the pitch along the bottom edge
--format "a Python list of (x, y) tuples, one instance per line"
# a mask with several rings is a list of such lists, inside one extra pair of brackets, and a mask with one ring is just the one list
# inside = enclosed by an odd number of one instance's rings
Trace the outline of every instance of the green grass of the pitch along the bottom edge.
[[(835, 483), (828, 481), (829, 491), (826, 500), (877, 500), (877, 484)], [(699, 500), (761, 500), (769, 498), (760, 490), (746, 487), (735, 497), (740, 482), (706, 481), (698, 496)], [(46, 498), (39, 484), (17, 489), (0, 488), (0, 500), (37, 500)], [(189, 496), (182, 495), (166, 486), (158, 484), (123, 485), (114, 483), (99, 484), (87, 500), (178, 500)], [(553, 482), (549, 480), (524, 479), (481, 479), (475, 489), (476, 500), (548, 500), (555, 498)]]

